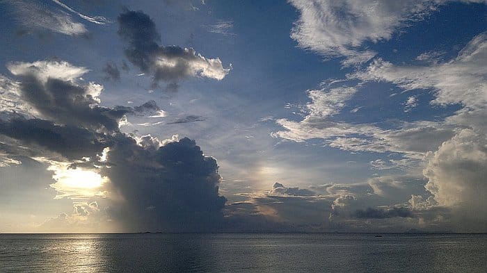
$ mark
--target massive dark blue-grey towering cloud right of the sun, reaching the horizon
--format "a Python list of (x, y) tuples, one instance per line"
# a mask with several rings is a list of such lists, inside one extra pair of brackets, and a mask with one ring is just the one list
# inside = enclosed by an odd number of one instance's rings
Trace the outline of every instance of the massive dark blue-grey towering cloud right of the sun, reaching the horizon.
[(118, 135), (107, 158), (111, 167), (102, 174), (127, 201), (118, 217), (130, 229), (209, 231), (221, 224), (218, 165), (194, 140), (149, 149)]

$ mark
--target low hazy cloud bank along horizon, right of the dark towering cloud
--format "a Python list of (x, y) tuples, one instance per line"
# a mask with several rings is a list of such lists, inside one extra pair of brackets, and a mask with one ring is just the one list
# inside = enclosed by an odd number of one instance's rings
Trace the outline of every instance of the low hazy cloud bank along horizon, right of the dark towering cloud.
[(271, 227), (272, 222), (279, 223), (283, 225), (279, 229), (286, 231), (399, 232), (444, 228), (445, 222), (434, 222), (432, 217), (434, 213), (438, 217), (440, 210), (426, 213), (415, 209), (413, 212), (408, 202), (411, 195), (426, 194), (424, 183), (411, 176), (385, 176), (356, 184), (330, 183), (310, 189), (274, 183), (269, 191), (242, 194), (248, 199), (229, 204), (225, 215), (232, 227), (233, 220), (248, 220), (265, 227)]

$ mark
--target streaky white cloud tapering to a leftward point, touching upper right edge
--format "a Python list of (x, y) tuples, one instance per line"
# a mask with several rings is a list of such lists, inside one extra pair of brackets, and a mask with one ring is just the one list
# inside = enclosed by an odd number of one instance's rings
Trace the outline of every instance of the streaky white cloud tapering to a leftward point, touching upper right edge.
[(350, 77), (389, 81), (404, 90), (433, 89), (436, 98), (432, 104), (461, 104), (473, 110), (487, 104), (486, 61), (487, 34), (481, 33), (447, 63), (401, 67), (378, 58)]

